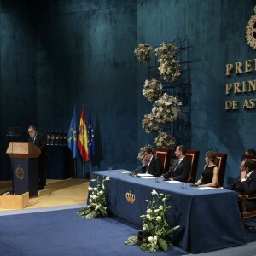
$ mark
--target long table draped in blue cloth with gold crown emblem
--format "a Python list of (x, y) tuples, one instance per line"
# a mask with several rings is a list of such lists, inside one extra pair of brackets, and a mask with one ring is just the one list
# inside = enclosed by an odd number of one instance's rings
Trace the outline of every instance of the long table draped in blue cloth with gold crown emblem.
[[(173, 244), (191, 253), (205, 253), (246, 244), (236, 193), (224, 189), (199, 190), (181, 183), (156, 183), (154, 179), (131, 177), (125, 170), (91, 172), (90, 179), (110, 177), (107, 183), (109, 210), (119, 218), (142, 228), (140, 215), (146, 213), (151, 192), (170, 194), (168, 223), (180, 228), (172, 234)], [(94, 186), (90, 183), (90, 186)], [(134, 203), (126, 193), (135, 195)], [(135, 234), (136, 235), (136, 234)], [(134, 235), (134, 236), (135, 236)]]

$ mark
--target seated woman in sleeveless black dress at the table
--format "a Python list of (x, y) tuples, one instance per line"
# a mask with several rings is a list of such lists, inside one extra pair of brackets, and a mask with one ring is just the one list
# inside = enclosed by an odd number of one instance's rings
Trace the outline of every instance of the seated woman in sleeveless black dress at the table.
[(195, 185), (203, 185), (207, 187), (215, 187), (218, 182), (218, 167), (216, 166), (217, 154), (208, 151), (206, 154), (206, 165), (201, 174), (201, 178)]

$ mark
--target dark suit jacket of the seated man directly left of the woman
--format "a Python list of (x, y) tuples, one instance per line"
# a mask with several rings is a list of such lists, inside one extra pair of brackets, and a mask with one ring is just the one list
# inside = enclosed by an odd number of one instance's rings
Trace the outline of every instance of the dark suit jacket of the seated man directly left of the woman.
[[(174, 161), (172, 166), (169, 168), (169, 171), (166, 172), (164, 178), (173, 179), (181, 182), (186, 182), (189, 178), (189, 174), (191, 172), (191, 162), (184, 157), (180, 164), (177, 166), (177, 161)], [(177, 166), (176, 170), (175, 166)]]

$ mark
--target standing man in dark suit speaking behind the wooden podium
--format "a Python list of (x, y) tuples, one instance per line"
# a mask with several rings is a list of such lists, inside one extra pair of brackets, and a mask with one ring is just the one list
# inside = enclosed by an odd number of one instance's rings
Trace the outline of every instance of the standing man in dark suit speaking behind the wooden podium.
[(38, 148), (41, 149), (41, 154), (38, 158), (38, 190), (42, 190), (46, 185), (47, 176), (48, 154), (46, 148), (46, 136), (37, 131), (35, 125), (29, 125), (27, 131), (29, 134), (28, 142), (34, 143)]

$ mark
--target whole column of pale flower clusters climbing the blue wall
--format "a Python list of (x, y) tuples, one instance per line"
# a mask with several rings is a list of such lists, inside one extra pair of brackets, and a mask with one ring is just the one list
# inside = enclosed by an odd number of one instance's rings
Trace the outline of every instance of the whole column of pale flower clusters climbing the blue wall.
[[(134, 55), (138, 61), (148, 62), (151, 61), (150, 53), (153, 51), (153, 47), (148, 44), (139, 44), (137, 49), (134, 50)], [(176, 44), (162, 43), (156, 49), (154, 49), (155, 55), (160, 62), (160, 76), (168, 81), (173, 82), (181, 74), (179, 70), (179, 62), (177, 58), (177, 46)], [(151, 113), (145, 114), (142, 121), (143, 129), (146, 133), (157, 132), (157, 136), (154, 139), (154, 146), (157, 148), (172, 148), (175, 145), (175, 138), (172, 135), (164, 131), (164, 127), (167, 123), (174, 122), (181, 114), (182, 103), (178, 101), (176, 96), (170, 96), (167, 93), (162, 92), (163, 85), (159, 80), (150, 79), (146, 80), (143, 86), (143, 96), (145, 96), (149, 102), (153, 103)], [(145, 148), (154, 148), (151, 145), (146, 145), (140, 148), (138, 155), (139, 159), (143, 157), (143, 150)]]

